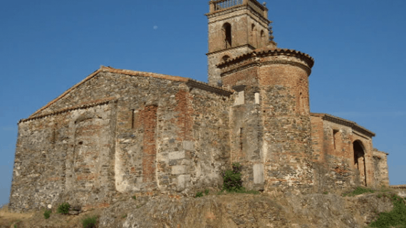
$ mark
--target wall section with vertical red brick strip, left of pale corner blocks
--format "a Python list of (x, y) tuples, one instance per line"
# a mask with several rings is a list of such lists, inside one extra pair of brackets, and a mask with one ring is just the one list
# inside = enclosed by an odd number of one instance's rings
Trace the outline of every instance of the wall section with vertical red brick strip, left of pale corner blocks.
[(118, 102), (115, 187), (119, 192), (167, 190), (175, 185), (168, 175), (172, 168), (167, 157), (182, 143), (185, 132), (184, 110), (179, 108), (183, 102), (179, 87), (183, 84), (114, 76), (123, 82), (123, 98)]

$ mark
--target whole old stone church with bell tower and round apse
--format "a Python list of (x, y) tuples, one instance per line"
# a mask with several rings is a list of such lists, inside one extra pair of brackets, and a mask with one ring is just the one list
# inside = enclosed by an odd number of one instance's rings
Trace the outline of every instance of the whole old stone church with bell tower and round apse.
[(247, 189), (389, 185), (375, 133), (311, 113), (313, 58), (278, 48), (256, 0), (209, 1), (208, 81), (101, 67), (19, 121), (10, 207), (194, 195), (231, 163)]

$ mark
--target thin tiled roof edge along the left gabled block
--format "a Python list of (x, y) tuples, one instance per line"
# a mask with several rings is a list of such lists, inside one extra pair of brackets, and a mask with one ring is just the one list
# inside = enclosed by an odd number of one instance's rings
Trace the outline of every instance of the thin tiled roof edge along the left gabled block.
[(227, 96), (229, 96), (229, 95), (231, 95), (231, 93), (233, 93), (232, 90), (227, 90), (225, 88), (220, 88), (220, 87), (217, 87), (217, 86), (211, 86), (208, 83), (196, 81), (196, 80), (193, 80), (191, 78), (183, 78), (183, 77), (179, 77), (179, 76), (168, 76), (168, 75), (165, 75), (165, 74), (150, 73), (150, 72), (143, 72), (143, 71), (121, 70), (121, 69), (112, 68), (110, 66), (100, 66), (100, 68), (98, 68), (97, 71), (94, 71), (93, 73), (90, 73), (89, 76), (84, 78), (82, 81), (77, 83), (75, 86), (72, 86), (71, 88), (69, 88), (68, 90), (63, 92), (61, 95), (59, 95), (57, 98), (51, 100), (48, 104), (46, 104), (42, 108), (36, 110), (35, 113), (31, 114), (27, 118), (27, 120), (31, 119), (31, 118), (34, 118), (35, 115), (37, 115), (38, 113), (41, 113), (41, 111), (45, 110), (46, 108), (51, 106), (53, 103), (56, 103), (56, 101), (60, 100), (65, 95), (67, 95), (72, 90), (74, 90), (78, 86), (82, 85), (86, 81), (89, 81), (91, 78), (98, 75), (98, 73), (100, 73), (100, 72), (120, 73), (120, 74), (129, 75), (129, 76), (144, 76), (144, 77), (152, 77), (152, 78), (162, 78), (162, 79), (171, 80), (171, 81), (179, 81), (179, 82), (187, 83), (187, 85), (191, 86), (191, 87), (201, 88), (203, 90), (208, 90), (208, 91), (211, 91), (213, 93), (219, 93), (221, 95), (227, 95)]

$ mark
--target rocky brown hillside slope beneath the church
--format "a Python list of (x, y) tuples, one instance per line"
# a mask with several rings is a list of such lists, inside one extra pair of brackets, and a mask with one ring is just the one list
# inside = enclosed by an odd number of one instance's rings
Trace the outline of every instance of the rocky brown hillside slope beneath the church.
[[(354, 197), (334, 194), (300, 195), (204, 195), (203, 197), (121, 195), (110, 207), (78, 215), (43, 212), (21, 218), (0, 214), (2, 227), (82, 227), (80, 220), (98, 215), (98, 227), (298, 227), (363, 228), (380, 212), (389, 212), (392, 192), (375, 192)], [(405, 191), (397, 195), (406, 197)], [(23, 215), (25, 217), (23, 217)], [(16, 214), (14, 214), (16, 216)]]

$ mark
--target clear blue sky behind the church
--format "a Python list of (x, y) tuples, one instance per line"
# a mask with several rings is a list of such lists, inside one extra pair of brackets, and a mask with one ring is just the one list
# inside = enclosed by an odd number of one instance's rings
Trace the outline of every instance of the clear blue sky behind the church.
[[(100, 65), (207, 81), (208, 0), (14, 0), (0, 8), (0, 204), (17, 122)], [(268, 0), (275, 41), (310, 54), (314, 113), (353, 120), (406, 184), (406, 1)]]

